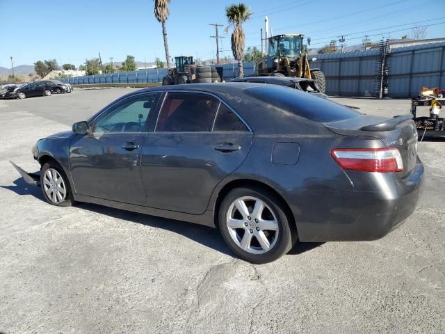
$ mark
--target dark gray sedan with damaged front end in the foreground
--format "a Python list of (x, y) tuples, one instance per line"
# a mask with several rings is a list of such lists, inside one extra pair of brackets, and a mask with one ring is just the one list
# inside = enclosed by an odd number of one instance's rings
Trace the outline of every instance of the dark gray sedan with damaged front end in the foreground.
[(91, 202), (220, 229), (244, 260), (299, 241), (379, 239), (423, 180), (412, 116), (264, 84), (147, 88), (33, 148), (52, 205)]

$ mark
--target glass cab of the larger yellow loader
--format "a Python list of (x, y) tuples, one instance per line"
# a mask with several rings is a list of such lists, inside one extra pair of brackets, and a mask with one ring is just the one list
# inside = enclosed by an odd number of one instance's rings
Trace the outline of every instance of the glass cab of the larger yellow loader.
[(298, 58), (303, 51), (304, 35), (275, 35), (269, 38), (269, 57)]

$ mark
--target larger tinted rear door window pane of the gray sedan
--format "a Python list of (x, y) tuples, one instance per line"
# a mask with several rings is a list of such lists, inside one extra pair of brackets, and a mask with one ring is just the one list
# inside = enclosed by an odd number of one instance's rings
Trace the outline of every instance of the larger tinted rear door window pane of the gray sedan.
[(199, 93), (168, 93), (156, 132), (210, 132), (220, 102)]

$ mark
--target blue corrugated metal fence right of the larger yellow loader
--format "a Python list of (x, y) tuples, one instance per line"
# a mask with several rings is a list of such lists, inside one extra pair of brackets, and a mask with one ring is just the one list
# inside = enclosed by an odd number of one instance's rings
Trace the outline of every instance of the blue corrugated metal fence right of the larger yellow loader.
[[(444, 87), (444, 49), (445, 42), (391, 48), (386, 61), (385, 96), (414, 97), (422, 86)], [(318, 54), (311, 67), (325, 73), (328, 95), (375, 96), (381, 56), (381, 50)]]

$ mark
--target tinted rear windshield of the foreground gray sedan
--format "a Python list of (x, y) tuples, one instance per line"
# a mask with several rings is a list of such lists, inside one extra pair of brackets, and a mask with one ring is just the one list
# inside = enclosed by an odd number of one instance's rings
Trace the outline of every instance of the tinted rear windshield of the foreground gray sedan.
[(292, 88), (267, 85), (264, 87), (248, 88), (244, 92), (267, 104), (314, 122), (336, 122), (337, 120), (347, 120), (348, 118), (361, 115), (361, 113), (342, 106), (341, 104)]

